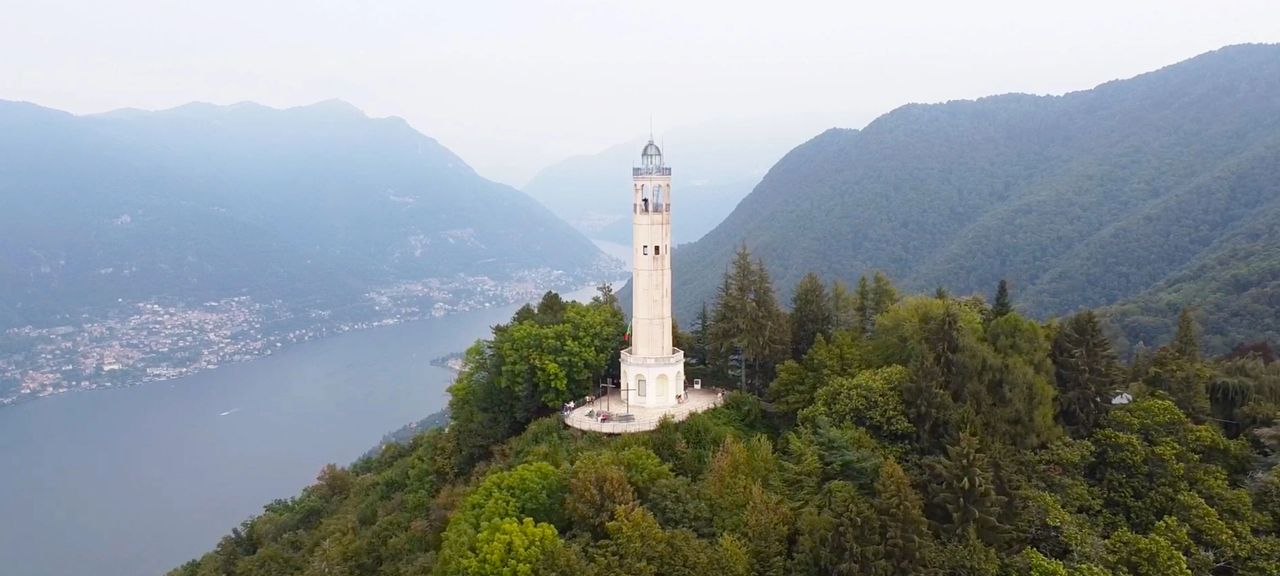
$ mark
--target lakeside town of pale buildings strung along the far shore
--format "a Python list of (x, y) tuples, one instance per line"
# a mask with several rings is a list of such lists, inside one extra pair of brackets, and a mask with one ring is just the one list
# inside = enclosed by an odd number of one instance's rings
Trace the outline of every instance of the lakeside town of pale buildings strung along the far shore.
[(506, 306), (589, 282), (538, 269), (504, 280), (458, 275), (402, 282), (340, 308), (250, 297), (137, 302), (79, 324), (10, 328), (0, 332), (0, 406), (182, 378), (326, 335)]

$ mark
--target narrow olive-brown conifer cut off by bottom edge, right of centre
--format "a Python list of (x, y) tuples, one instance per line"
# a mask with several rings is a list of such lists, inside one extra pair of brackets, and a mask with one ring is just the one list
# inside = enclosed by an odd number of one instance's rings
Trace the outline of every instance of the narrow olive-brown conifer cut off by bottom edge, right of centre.
[(876, 511), (884, 535), (883, 557), (876, 572), (884, 576), (915, 573), (928, 554), (928, 522), (920, 495), (893, 460), (886, 460), (881, 466), (876, 495)]

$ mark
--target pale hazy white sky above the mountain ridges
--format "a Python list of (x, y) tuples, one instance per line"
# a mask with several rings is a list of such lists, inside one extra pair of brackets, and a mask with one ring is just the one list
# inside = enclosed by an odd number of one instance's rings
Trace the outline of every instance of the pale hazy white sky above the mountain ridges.
[(0, 99), (74, 113), (343, 99), (481, 174), (648, 129), (861, 127), (911, 101), (1061, 93), (1229, 44), (1265, 1), (0, 0)]

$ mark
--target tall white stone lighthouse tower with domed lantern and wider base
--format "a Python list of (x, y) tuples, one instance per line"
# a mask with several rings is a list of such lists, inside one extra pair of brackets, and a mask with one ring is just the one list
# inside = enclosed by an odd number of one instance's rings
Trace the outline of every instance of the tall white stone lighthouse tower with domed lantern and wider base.
[(662, 408), (685, 393), (685, 352), (671, 346), (671, 168), (645, 145), (631, 169), (631, 347), (622, 351), (623, 394)]

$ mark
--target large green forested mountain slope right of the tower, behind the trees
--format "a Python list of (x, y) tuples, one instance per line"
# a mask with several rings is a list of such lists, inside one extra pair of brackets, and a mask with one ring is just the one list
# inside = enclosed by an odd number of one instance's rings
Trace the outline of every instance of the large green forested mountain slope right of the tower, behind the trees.
[(1277, 221), (1280, 46), (1233, 46), (1065, 96), (911, 104), (824, 132), (675, 253), (676, 302), (691, 319), (745, 243), (787, 297), (809, 270), (960, 293), (1007, 278), (1037, 315), (1135, 298), (1112, 312), (1147, 342), (1164, 308), (1202, 307), (1221, 349), (1280, 337)]

